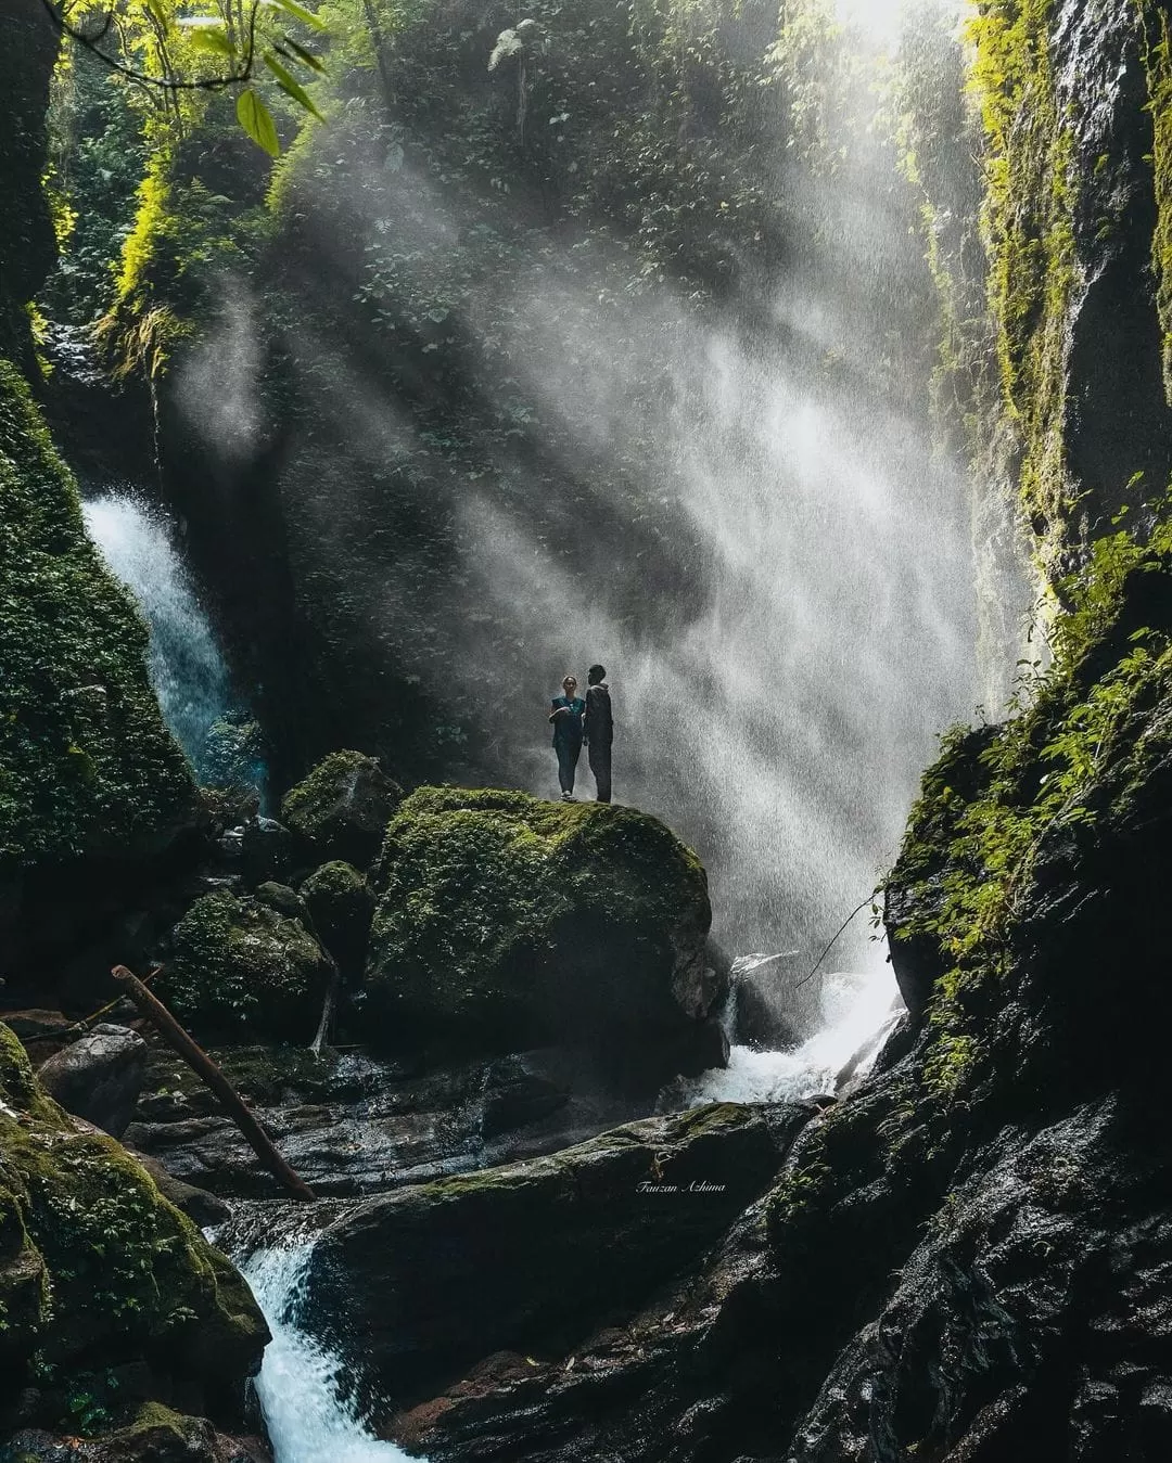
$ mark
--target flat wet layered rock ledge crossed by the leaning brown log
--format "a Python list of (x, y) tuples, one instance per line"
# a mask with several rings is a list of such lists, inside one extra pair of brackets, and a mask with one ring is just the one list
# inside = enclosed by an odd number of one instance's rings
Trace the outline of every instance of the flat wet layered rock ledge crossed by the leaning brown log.
[[(322, 1195), (376, 1194), (552, 1153), (650, 1115), (581, 1053), (543, 1050), (424, 1072), (360, 1052), (215, 1048), (281, 1151)], [(275, 1181), (215, 1097), (173, 1058), (152, 1067), (126, 1141), (179, 1179), (227, 1197), (277, 1197)]]

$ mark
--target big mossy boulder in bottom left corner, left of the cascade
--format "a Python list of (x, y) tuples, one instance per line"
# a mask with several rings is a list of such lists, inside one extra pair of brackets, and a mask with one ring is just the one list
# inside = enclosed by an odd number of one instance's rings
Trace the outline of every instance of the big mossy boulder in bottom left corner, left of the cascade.
[(53, 1426), (76, 1423), (82, 1397), (111, 1422), (176, 1397), (233, 1422), (268, 1339), (237, 1271), (124, 1148), (45, 1096), (1, 1024), (0, 1321), (0, 1432), (18, 1400)]

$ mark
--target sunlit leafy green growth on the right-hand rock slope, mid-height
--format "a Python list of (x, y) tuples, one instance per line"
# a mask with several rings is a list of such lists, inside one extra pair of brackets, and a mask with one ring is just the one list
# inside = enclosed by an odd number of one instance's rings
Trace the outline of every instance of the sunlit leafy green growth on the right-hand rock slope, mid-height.
[[(1024, 688), (1001, 727), (955, 730), (923, 778), (888, 878), (890, 933), (931, 951), (923, 1083), (951, 1099), (980, 1071), (985, 1023), (1045, 851), (1125, 819), (1172, 753), (1172, 527), (1146, 546), (1094, 544), (1061, 585), (1051, 672)], [(1150, 617), (1150, 623), (1147, 622)]]

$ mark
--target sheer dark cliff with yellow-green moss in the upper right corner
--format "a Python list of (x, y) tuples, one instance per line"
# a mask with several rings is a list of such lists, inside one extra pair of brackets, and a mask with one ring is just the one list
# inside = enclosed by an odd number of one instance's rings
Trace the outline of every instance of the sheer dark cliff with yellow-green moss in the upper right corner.
[[(1042, 568), (1061, 576), (1172, 473), (1168, 18), (1154, 0), (985, 0), (967, 37), (999, 411)], [(944, 271), (947, 296), (963, 274)], [(985, 335), (967, 335), (950, 366), (972, 383)], [(982, 452), (1001, 423), (977, 395)]]

